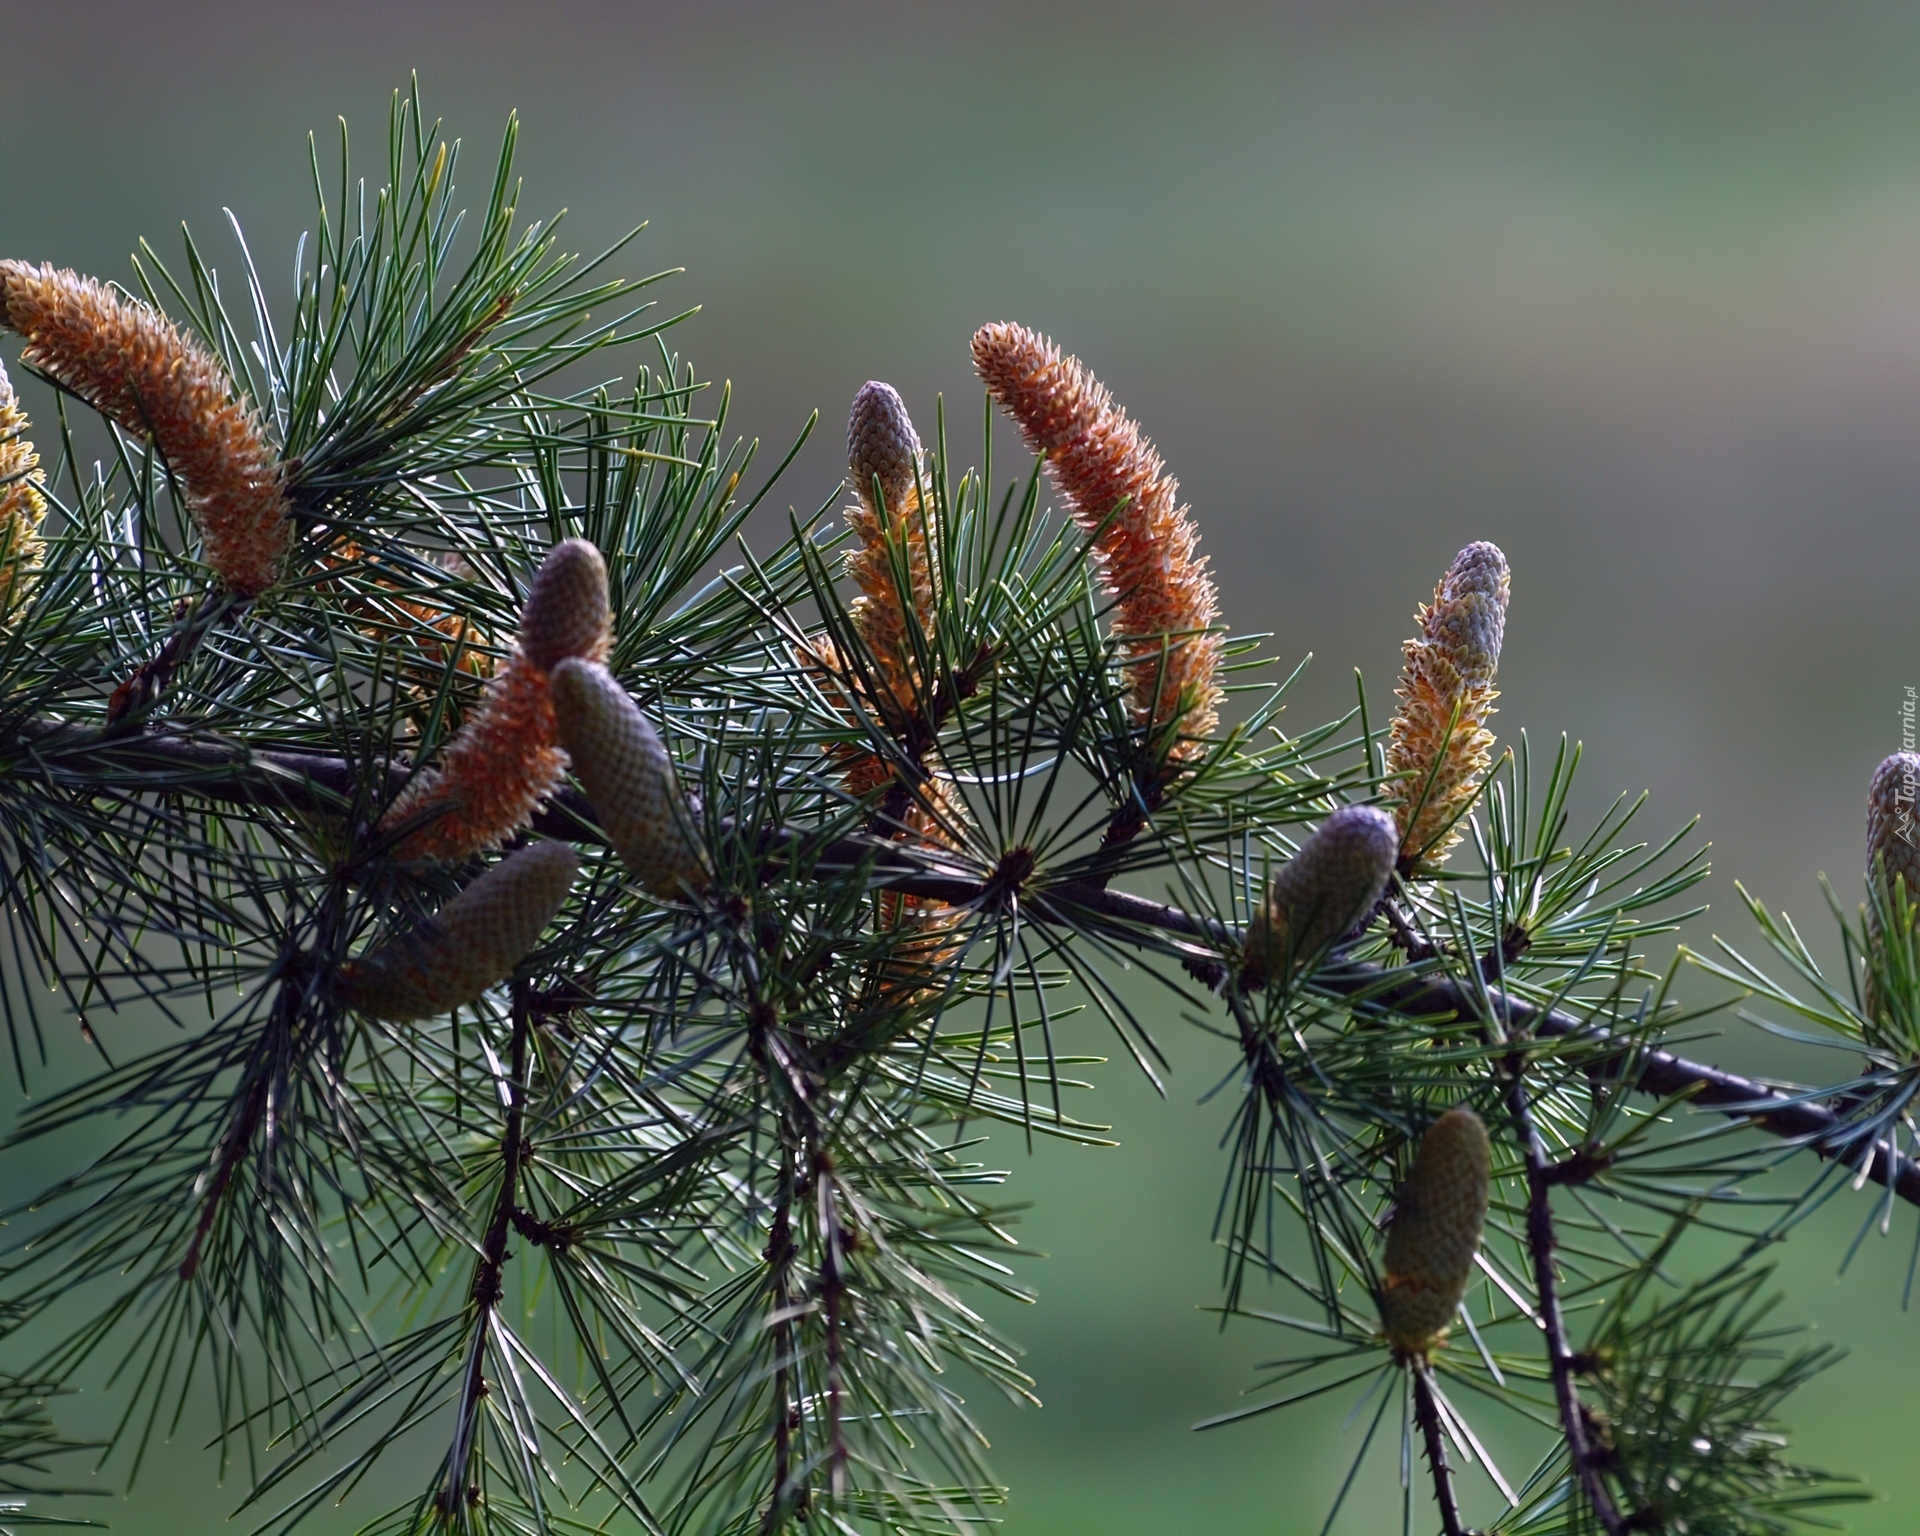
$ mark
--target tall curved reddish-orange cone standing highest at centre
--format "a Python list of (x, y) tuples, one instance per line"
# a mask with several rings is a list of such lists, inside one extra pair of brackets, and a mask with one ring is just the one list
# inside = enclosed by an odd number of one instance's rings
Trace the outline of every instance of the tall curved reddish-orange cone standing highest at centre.
[(1204, 634), (1219, 593), (1194, 553), (1200, 530), (1179, 505), (1179, 482), (1106, 386), (1044, 336), (981, 326), (973, 367), (1027, 445), (1046, 455), (1073, 520), (1100, 530), (1094, 555), (1117, 599), (1114, 634), (1135, 724), (1160, 732), (1179, 722), (1187, 739), (1169, 755), (1198, 756), (1198, 737), (1219, 722), (1219, 636)]

